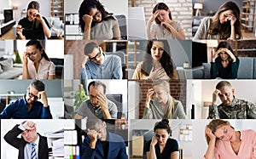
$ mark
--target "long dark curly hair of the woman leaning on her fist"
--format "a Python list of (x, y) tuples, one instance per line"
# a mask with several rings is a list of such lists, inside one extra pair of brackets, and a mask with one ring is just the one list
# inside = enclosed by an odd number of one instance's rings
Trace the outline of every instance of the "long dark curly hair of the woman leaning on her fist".
[[(102, 14), (102, 20), (115, 20), (112, 14), (109, 14), (105, 9), (102, 3), (100, 3), (98, 0), (84, 0), (83, 3), (81, 3), (79, 8), (79, 26), (81, 27), (82, 32), (84, 32), (84, 20), (83, 16), (84, 14), (89, 14), (90, 9), (98, 9)], [(92, 21), (91, 27), (95, 26), (96, 22)]]

